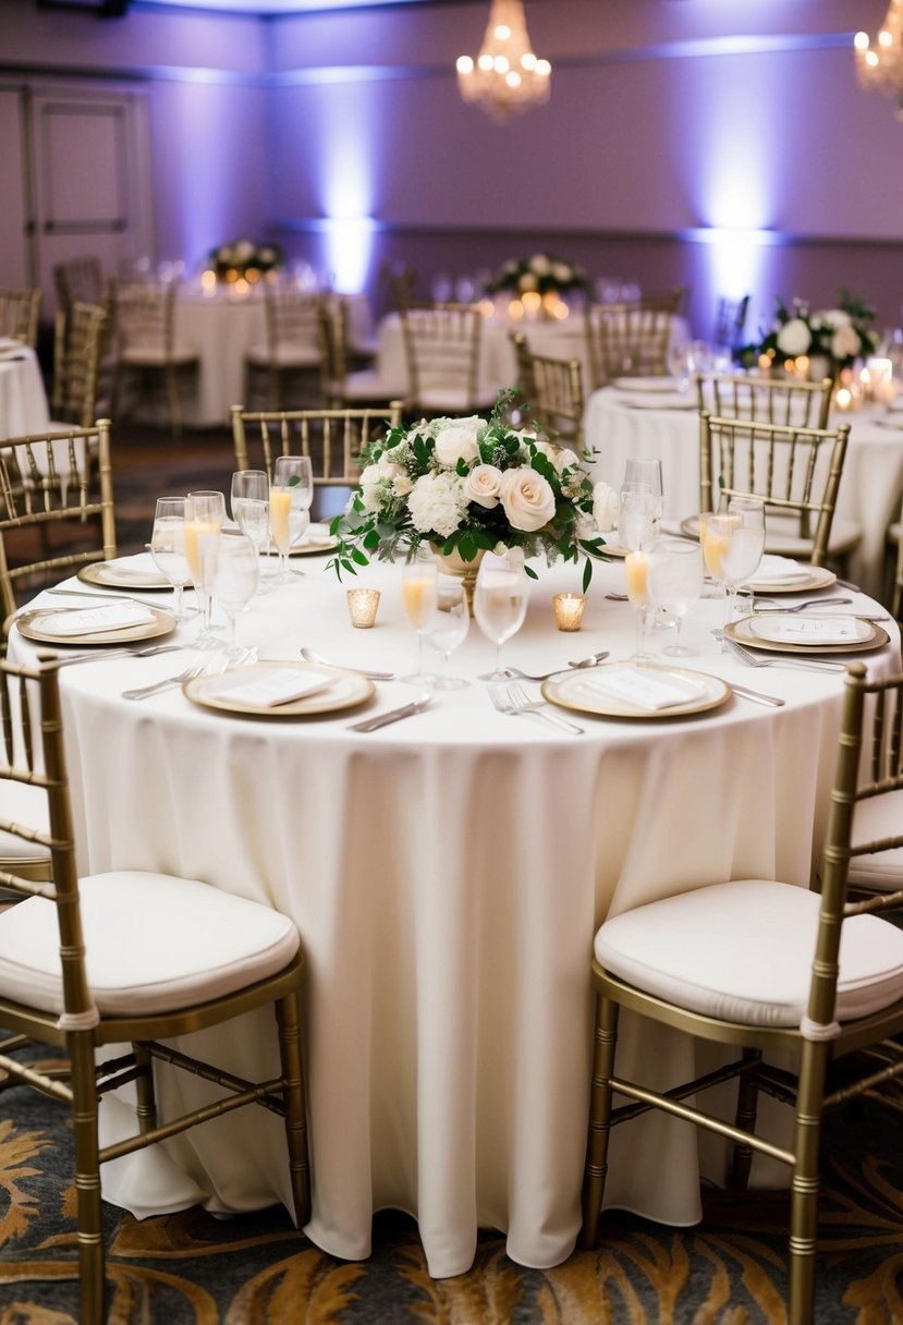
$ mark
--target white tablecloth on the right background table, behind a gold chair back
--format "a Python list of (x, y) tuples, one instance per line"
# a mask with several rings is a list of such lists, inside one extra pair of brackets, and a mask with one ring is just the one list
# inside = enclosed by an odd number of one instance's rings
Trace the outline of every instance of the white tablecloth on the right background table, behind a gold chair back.
[[(612, 387), (593, 392), (584, 419), (587, 445), (596, 449), (591, 468), (596, 480), (617, 489), (629, 456), (661, 457), (665, 519), (679, 523), (699, 511), (699, 415), (692, 396), (686, 409), (649, 408), (653, 400)], [(900, 429), (888, 425), (894, 420)], [(851, 425), (837, 500), (837, 515), (862, 529), (850, 575), (879, 595), (887, 525), (898, 517), (903, 492), (903, 413), (862, 409), (833, 413), (829, 423)]]

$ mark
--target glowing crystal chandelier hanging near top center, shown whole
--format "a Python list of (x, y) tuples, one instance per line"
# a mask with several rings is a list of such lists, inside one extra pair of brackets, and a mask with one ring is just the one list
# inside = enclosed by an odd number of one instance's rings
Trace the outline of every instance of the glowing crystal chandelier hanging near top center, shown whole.
[(531, 49), (520, 0), (493, 0), (477, 60), (461, 56), (455, 68), (463, 99), (478, 102), (494, 119), (548, 101), (552, 66)]

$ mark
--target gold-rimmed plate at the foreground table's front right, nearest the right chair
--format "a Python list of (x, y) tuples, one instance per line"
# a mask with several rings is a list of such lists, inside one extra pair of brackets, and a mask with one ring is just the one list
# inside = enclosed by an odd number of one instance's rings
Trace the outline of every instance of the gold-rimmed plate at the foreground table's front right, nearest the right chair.
[[(613, 682), (610, 692), (604, 689), (608, 678)], [(667, 708), (646, 708), (629, 697), (626, 686), (625, 693), (617, 693), (617, 688), (637, 678), (647, 681), (653, 688), (667, 688), (674, 702), (669, 702)], [(563, 709), (597, 713), (606, 718), (679, 718), (716, 709), (731, 697), (731, 686), (720, 676), (657, 662), (604, 662), (592, 668), (592, 676), (589, 669), (560, 673), (543, 681), (542, 692), (546, 700)], [(662, 693), (665, 697), (663, 690)], [(685, 700), (681, 693), (686, 694)]]

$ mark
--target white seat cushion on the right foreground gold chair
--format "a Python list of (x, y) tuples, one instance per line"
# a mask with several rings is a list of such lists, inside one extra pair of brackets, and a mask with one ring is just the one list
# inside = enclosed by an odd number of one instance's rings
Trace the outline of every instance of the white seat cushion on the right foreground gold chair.
[[(818, 893), (759, 878), (714, 884), (605, 921), (606, 971), (706, 1016), (798, 1026), (806, 1012)], [(878, 916), (843, 924), (835, 1019), (903, 998), (903, 930)]]

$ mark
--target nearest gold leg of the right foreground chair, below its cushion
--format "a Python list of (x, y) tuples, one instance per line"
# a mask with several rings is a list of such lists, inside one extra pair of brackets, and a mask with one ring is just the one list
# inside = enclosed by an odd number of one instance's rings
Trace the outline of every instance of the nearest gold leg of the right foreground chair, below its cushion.
[(818, 1173), (821, 1114), (828, 1044), (806, 1040), (800, 1063), (793, 1121), (793, 1181), (790, 1186), (789, 1325), (812, 1325), (816, 1297), (816, 1235), (818, 1232)]

